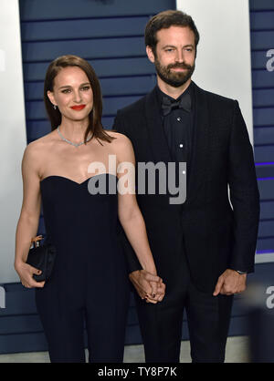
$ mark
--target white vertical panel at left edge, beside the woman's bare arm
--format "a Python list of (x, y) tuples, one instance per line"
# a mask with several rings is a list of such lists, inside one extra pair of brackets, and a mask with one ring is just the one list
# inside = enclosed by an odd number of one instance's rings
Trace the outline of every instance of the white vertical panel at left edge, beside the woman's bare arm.
[(19, 4), (1, 0), (0, 11), (0, 283), (18, 282), (14, 269), (16, 223), (22, 205), (21, 161), (26, 148)]

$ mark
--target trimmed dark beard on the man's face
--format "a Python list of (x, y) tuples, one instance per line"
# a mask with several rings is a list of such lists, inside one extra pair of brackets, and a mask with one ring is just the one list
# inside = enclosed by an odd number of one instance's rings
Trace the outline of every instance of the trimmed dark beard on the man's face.
[[(181, 64), (170, 64), (167, 65), (167, 67), (163, 67), (163, 65), (160, 64), (160, 61), (157, 57), (155, 57), (154, 65), (158, 76), (163, 80), (163, 82), (172, 86), (173, 88), (180, 88), (180, 86), (183, 86), (184, 83), (188, 81), (188, 79), (193, 75), (195, 71), (195, 64), (191, 66), (184, 64), (184, 62)], [(186, 71), (171, 71), (172, 68), (177, 67), (184, 68), (186, 69)]]

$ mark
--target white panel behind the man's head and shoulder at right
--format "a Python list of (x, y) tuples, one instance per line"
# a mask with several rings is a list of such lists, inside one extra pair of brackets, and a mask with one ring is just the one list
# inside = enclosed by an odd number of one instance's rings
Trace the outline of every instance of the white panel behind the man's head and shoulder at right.
[(200, 33), (193, 79), (205, 90), (237, 99), (253, 144), (248, 0), (177, 0)]

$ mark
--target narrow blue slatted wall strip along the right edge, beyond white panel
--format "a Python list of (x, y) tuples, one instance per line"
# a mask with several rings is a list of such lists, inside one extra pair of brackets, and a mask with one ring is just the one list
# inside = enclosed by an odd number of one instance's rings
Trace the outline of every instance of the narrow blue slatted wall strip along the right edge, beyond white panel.
[(250, 0), (250, 26), (254, 146), (261, 200), (257, 250), (264, 253), (274, 252), (274, 62), (272, 71), (267, 69), (267, 53), (274, 49), (272, 0)]

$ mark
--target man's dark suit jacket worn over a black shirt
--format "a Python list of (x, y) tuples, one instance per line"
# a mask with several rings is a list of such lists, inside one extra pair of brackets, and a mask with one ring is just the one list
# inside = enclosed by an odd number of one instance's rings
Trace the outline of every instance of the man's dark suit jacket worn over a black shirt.
[[(254, 271), (258, 184), (253, 149), (237, 101), (195, 84), (194, 88), (195, 130), (186, 201), (171, 205), (170, 194), (136, 196), (159, 276), (167, 267), (172, 268), (173, 258), (183, 251), (184, 242), (193, 281), (199, 289), (212, 292), (217, 278), (227, 268)], [(131, 139), (136, 171), (138, 162), (172, 161), (156, 88), (119, 110), (113, 129)], [(129, 272), (140, 269), (122, 232), (121, 240)]]

